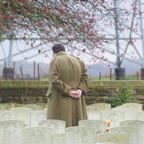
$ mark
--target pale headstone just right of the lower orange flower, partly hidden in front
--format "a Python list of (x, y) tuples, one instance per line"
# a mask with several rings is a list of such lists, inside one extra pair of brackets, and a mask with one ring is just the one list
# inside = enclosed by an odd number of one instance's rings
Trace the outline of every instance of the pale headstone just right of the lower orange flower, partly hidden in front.
[(129, 144), (138, 144), (138, 129), (134, 127), (110, 128), (110, 132), (125, 133), (129, 135)]

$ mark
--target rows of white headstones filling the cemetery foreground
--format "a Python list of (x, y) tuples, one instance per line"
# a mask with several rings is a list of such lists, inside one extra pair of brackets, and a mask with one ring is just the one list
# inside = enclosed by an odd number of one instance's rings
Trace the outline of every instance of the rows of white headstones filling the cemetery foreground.
[[(88, 120), (68, 128), (65, 121), (47, 120), (41, 106), (12, 107), (0, 105), (0, 144), (144, 144), (142, 104), (92, 104)], [(107, 120), (112, 120), (109, 132)]]

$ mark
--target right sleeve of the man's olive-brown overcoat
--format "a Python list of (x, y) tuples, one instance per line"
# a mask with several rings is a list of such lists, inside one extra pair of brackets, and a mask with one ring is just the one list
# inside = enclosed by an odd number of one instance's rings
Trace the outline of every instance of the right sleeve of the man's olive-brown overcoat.
[(87, 69), (84, 63), (82, 61), (80, 61), (80, 63), (82, 66), (82, 77), (78, 88), (81, 89), (83, 91), (83, 94), (85, 95), (89, 87), (89, 76), (87, 75)]

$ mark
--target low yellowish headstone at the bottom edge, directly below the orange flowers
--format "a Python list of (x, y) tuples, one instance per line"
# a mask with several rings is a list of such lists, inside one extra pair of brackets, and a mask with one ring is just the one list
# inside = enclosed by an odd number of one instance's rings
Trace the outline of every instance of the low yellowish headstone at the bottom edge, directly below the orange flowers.
[(114, 142), (116, 144), (128, 144), (129, 136), (121, 133), (105, 133), (99, 134), (97, 138), (98, 143)]

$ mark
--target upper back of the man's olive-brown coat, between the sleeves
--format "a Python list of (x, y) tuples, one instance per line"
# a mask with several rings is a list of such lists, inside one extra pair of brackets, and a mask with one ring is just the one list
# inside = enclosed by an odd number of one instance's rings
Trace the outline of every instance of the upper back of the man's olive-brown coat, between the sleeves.
[(59, 55), (55, 62), (60, 80), (72, 87), (77, 87), (82, 76), (80, 61), (69, 55)]

